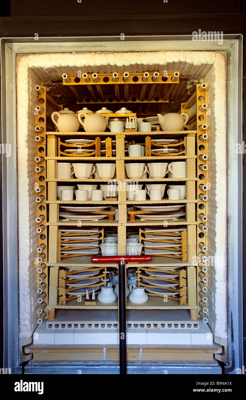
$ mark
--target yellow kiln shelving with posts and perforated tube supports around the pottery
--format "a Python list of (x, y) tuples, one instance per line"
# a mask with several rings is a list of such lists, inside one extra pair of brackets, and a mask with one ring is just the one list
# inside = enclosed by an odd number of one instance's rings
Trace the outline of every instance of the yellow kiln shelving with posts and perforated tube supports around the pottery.
[[(137, 76), (139, 74), (136, 74)], [(87, 86), (92, 85), (92, 76), (88, 74), (90, 79), (90, 84), (88, 82), (84, 82)], [(98, 74), (99, 76), (99, 74)], [(107, 76), (107, 74), (104, 74)], [(134, 74), (130, 76), (129, 84), (133, 84)], [(169, 86), (177, 84), (179, 81), (173, 82), (171, 80), (173, 74), (169, 74), (167, 83)], [(153, 74), (150, 73), (150, 77), (152, 79)], [(70, 77), (71, 78), (71, 77)], [(74, 77), (76, 78), (76, 77)], [(101, 79), (101, 76), (99, 76)], [(93, 78), (92, 78), (93, 79)], [(102, 77), (103, 79), (103, 77)], [(165, 83), (163, 80), (159, 82), (161, 78), (158, 78), (157, 83)], [(120, 80), (118, 84), (124, 85), (127, 88), (126, 83), (122, 81), (123, 74), (120, 76)], [(136, 83), (136, 82), (135, 82)], [(154, 85), (153, 81), (149, 82), (151, 86)], [(67, 84), (63, 80), (63, 84)], [(79, 84), (74, 82), (73, 79), (70, 80), (70, 86), (75, 88), (75, 85)], [(100, 81), (101, 84), (101, 81)], [(104, 82), (103, 84), (107, 84)], [(115, 85), (116, 82), (109, 82), (110, 85)], [(138, 84), (140, 84), (138, 80)], [(141, 85), (145, 83), (141, 82)], [(169, 88), (167, 86), (167, 88)], [(143, 86), (141, 86), (143, 87)], [(172, 266), (182, 268), (186, 270), (186, 280), (187, 280), (187, 301), (186, 304), (174, 304), (179, 303), (177, 301), (172, 301), (172, 299), (168, 299), (168, 304), (165, 304), (163, 301), (159, 301), (155, 299), (153, 296), (153, 300), (150, 300), (149, 304), (134, 306), (127, 302), (127, 308), (135, 309), (135, 308), (150, 308), (150, 309), (177, 309), (177, 308), (187, 308), (190, 310), (191, 319), (196, 319), (197, 316), (204, 318), (202, 313), (202, 305), (201, 297), (199, 293), (204, 290), (203, 288), (207, 288), (206, 278), (207, 278), (207, 264), (206, 258), (203, 256), (203, 260), (195, 259), (194, 256), (199, 257), (202, 255), (203, 251), (201, 250), (202, 244), (207, 247), (207, 234), (206, 229), (204, 230), (204, 226), (206, 227), (206, 223), (204, 220), (201, 220), (202, 215), (204, 214), (207, 217), (208, 213), (208, 202), (201, 198), (201, 194), (206, 196), (207, 190), (202, 190), (202, 184), (206, 186), (208, 182), (208, 170), (201, 170), (201, 165), (207, 165), (207, 159), (201, 159), (200, 156), (206, 156), (208, 150), (208, 141), (207, 141), (207, 113), (205, 110), (202, 110), (201, 106), (207, 102), (207, 88), (202, 88), (201, 84), (197, 84), (195, 96), (191, 96), (191, 99), (188, 100), (185, 104), (181, 104), (180, 112), (187, 112), (189, 115), (188, 124), (185, 126), (183, 131), (180, 132), (57, 132), (55, 131), (55, 127), (51, 130), (51, 125), (49, 122), (49, 116), (46, 114), (46, 88), (45, 86), (39, 87), (39, 91), (37, 91), (37, 109), (38, 114), (36, 114), (36, 134), (38, 135), (37, 139), (37, 158), (39, 161), (36, 162), (36, 168), (41, 167), (40, 172), (36, 172), (37, 183), (42, 182), (41, 186), (44, 186), (44, 190), (42, 193), (37, 193), (37, 197), (39, 197), (39, 203), (37, 204), (37, 218), (40, 217), (42, 220), (38, 222), (38, 227), (43, 225), (41, 234), (38, 236), (39, 246), (41, 244), (45, 245), (43, 250), (42, 261), (38, 263), (39, 271), (41, 272), (37, 275), (38, 278), (43, 278), (41, 281), (44, 283), (43, 288), (43, 301), (41, 303), (42, 312), (40, 315), (41, 319), (55, 318), (55, 309), (57, 308), (87, 308), (82, 304), (78, 304), (75, 302), (76, 299), (72, 299), (68, 301), (68, 304), (59, 304), (59, 271), (63, 269), (64, 266), (76, 266), (79, 270), (80, 267), (87, 268), (98, 268), (99, 265), (95, 265), (91, 263), (90, 257), (80, 257), (74, 256), (69, 258), (61, 257), (61, 234), (59, 232), (59, 228), (61, 227), (75, 227), (77, 226), (76, 221), (71, 220), (62, 220), (59, 218), (59, 206), (62, 204), (79, 204), (79, 205), (104, 205), (114, 206), (118, 208), (118, 220), (100, 220), (94, 222), (84, 222), (81, 221), (80, 226), (98, 226), (100, 224), (100, 228), (110, 229), (112, 227), (116, 228), (118, 231), (118, 254), (124, 255), (126, 252), (126, 232), (130, 228), (134, 228), (136, 230), (142, 229), (144, 231), (145, 227), (154, 226), (161, 227), (163, 226), (163, 221), (145, 221), (136, 218), (136, 220), (128, 220), (128, 214), (131, 212), (130, 208), (136, 206), (136, 204), (148, 204), (148, 205), (163, 205), (163, 204), (178, 204), (182, 203), (185, 206), (185, 218), (179, 218), (177, 220), (168, 220), (167, 227), (177, 227), (177, 231), (179, 226), (185, 226), (187, 228), (186, 234), (187, 238), (182, 238), (181, 248), (185, 249), (185, 240), (187, 240), (186, 252), (182, 252), (182, 259), (176, 259), (171, 257), (161, 257), (154, 256), (152, 263), (146, 265), (142, 265), (142, 268), (155, 268), (158, 266)], [(127, 90), (127, 89), (126, 89)], [(99, 89), (100, 91), (100, 89)], [(168, 96), (166, 90), (166, 99), (161, 100), (161, 102), (167, 102)], [(117, 92), (117, 88), (116, 88)], [(146, 92), (147, 93), (147, 92)], [(150, 96), (151, 97), (151, 96)], [(146, 100), (144, 100), (146, 101)], [(116, 99), (113, 103), (116, 103)], [(95, 102), (94, 102), (95, 103)], [(140, 103), (140, 100), (139, 100)], [(77, 104), (79, 104), (79, 100), (77, 99)], [(160, 105), (161, 106), (161, 105)], [(193, 108), (195, 107), (195, 114), (193, 112)], [(59, 109), (59, 105), (57, 104), (57, 109)], [(202, 111), (201, 111), (202, 110)], [(101, 114), (104, 115), (104, 114)], [(105, 114), (105, 116), (109, 116)], [(136, 114), (110, 114), (110, 118), (128, 118), (128, 117), (136, 116)], [(46, 117), (48, 118), (48, 123), (46, 126)], [(203, 123), (201, 123), (203, 122)], [(49, 130), (47, 130), (47, 127)], [(205, 135), (205, 136), (204, 136)], [(69, 138), (76, 137), (87, 137), (94, 140), (93, 146), (85, 145), (85, 147), (81, 146), (81, 148), (92, 149), (93, 151), (85, 154), (69, 154), (63, 152), (65, 148), (73, 148), (71, 144), (69, 147), (63, 146), (65, 144), (65, 140)], [(153, 148), (159, 148), (161, 146), (153, 145), (153, 141), (156, 138), (177, 138), (179, 140), (176, 147), (179, 148), (179, 152), (177, 153), (167, 153), (167, 154), (156, 154), (152, 150)], [(101, 151), (101, 146), (99, 142), (102, 140), (106, 140), (106, 154), (99, 154), (99, 148)], [(112, 154), (112, 143), (110, 141), (116, 141), (116, 155)], [(128, 157), (125, 153), (126, 145), (125, 140), (129, 143), (143, 141), (145, 143), (145, 156), (142, 157)], [(163, 145), (162, 145), (163, 146)], [(75, 148), (77, 145), (75, 146)], [(175, 147), (173, 144), (169, 146), (171, 148)], [(63, 149), (63, 150), (62, 150)], [(110, 152), (111, 149), (111, 152)], [(64, 154), (65, 153), (65, 154)], [(154, 153), (154, 154), (153, 154)], [(163, 157), (167, 162), (175, 161), (175, 160), (185, 160), (186, 162), (186, 178), (163, 178), (163, 179), (152, 179), (152, 178), (143, 178), (138, 179), (139, 183), (177, 183), (177, 184), (185, 184), (186, 186), (186, 198), (182, 200), (168, 200), (164, 198), (162, 200), (151, 201), (146, 200), (142, 202), (137, 202), (135, 200), (128, 200), (126, 198), (126, 184), (132, 183), (134, 180), (130, 179), (126, 175), (125, 171), (125, 163), (127, 162), (148, 162), (150, 156), (152, 157), (152, 161), (156, 162), (163, 161)], [(107, 158), (107, 162), (114, 162), (116, 164), (116, 177), (110, 180), (105, 179), (58, 179), (56, 170), (57, 170), (57, 161), (67, 162), (105, 162), (105, 158)], [(43, 178), (41, 178), (43, 177)], [(41, 179), (40, 179), (41, 178)], [(135, 179), (136, 180), (136, 179)], [(97, 201), (93, 202), (91, 200), (87, 200), (84, 202), (71, 200), (69, 202), (65, 202), (63, 200), (57, 199), (57, 184), (67, 184), (71, 182), (71, 184), (76, 185), (76, 183), (85, 183), (85, 182), (94, 182), (97, 184), (106, 184), (110, 181), (112, 184), (120, 185), (120, 190), (118, 192), (118, 199), (112, 199), (112, 201)], [(40, 185), (40, 184), (39, 184)], [(206, 197), (205, 197), (206, 199)], [(103, 212), (104, 213), (104, 212)], [(143, 214), (143, 212), (142, 212)], [(47, 219), (47, 215), (49, 215), (49, 219)], [(49, 234), (49, 240), (47, 241), (47, 237)], [(205, 234), (203, 236), (203, 234)], [(202, 237), (203, 236), (203, 237)], [(144, 239), (146, 240), (146, 239)], [(43, 246), (42, 246), (43, 247)], [(39, 257), (39, 253), (37, 254), (37, 258)], [(206, 252), (205, 252), (206, 256)], [(100, 267), (102, 264), (100, 264)], [(111, 265), (110, 265), (111, 266)], [(138, 268), (139, 265), (127, 264), (126, 267), (134, 267)], [(117, 265), (114, 266), (117, 268)], [(84, 270), (83, 270), (84, 271)], [(203, 275), (202, 275), (203, 274)], [(49, 281), (48, 281), (49, 276)], [(46, 285), (46, 286), (45, 286)], [(44, 287), (45, 286), (45, 287)], [(202, 288), (201, 288), (202, 286)], [(63, 288), (64, 289), (64, 288)], [(66, 290), (66, 288), (65, 288)], [(206, 290), (206, 289), (205, 289)], [(47, 292), (47, 293), (46, 293)], [(49, 300), (48, 300), (48, 292), (49, 292)], [(203, 292), (204, 293), (204, 292)], [(44, 296), (45, 294), (45, 296)], [(201, 294), (201, 293), (200, 293)], [(64, 294), (63, 294), (64, 296)], [(151, 296), (152, 297), (152, 296)], [(171, 296), (172, 297), (172, 296)], [(203, 296), (204, 298), (204, 296)], [(170, 300), (170, 301), (169, 301)], [(96, 306), (94, 308), (110, 308), (109, 306)], [(111, 308), (117, 308), (117, 304), (113, 304)], [(41, 309), (41, 307), (39, 308)], [(88, 309), (93, 309), (93, 306), (88, 306)], [(197, 313), (200, 313), (197, 315)]]

